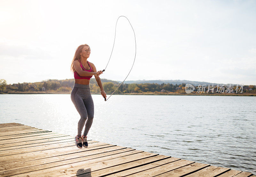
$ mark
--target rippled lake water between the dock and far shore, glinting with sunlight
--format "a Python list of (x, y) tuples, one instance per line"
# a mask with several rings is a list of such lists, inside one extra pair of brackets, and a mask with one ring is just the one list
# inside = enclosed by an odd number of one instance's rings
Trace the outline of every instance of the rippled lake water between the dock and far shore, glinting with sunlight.
[[(256, 173), (256, 97), (92, 98), (95, 113), (88, 139)], [(69, 94), (0, 95), (0, 123), (75, 137), (79, 119)]]

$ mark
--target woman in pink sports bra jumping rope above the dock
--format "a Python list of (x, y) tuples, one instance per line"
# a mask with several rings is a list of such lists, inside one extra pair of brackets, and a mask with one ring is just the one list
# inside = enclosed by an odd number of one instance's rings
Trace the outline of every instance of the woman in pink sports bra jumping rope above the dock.
[[(71, 63), (71, 70), (74, 71), (75, 77), (75, 84), (71, 91), (71, 100), (74, 103), (76, 110), (81, 116), (78, 122), (78, 132), (75, 137), (76, 146), (78, 148), (82, 148), (83, 146), (88, 147), (87, 134), (92, 126), (92, 120), (94, 116), (94, 104), (89, 85), (90, 79), (93, 75), (100, 87), (101, 95), (107, 98), (107, 95), (103, 90), (99, 77), (100, 74), (102, 74), (102, 71), (97, 71), (94, 64), (87, 61), (90, 54), (91, 49), (87, 44), (80, 45), (76, 49), (74, 58)], [(83, 136), (81, 136), (84, 124), (84, 134)]]

